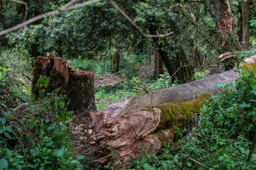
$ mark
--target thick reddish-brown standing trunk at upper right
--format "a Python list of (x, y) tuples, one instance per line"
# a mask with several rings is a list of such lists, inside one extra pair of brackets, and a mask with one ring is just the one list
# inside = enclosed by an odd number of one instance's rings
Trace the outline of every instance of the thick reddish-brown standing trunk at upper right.
[(228, 0), (214, 0), (218, 35), (220, 44), (223, 47), (228, 46), (228, 39), (231, 42), (232, 36), (232, 16)]

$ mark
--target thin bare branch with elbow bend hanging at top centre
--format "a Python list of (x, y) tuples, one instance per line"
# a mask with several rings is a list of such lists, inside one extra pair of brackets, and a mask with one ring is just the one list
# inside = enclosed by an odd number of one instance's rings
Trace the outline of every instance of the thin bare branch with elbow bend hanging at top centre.
[(123, 10), (121, 10), (116, 4), (114, 4), (114, 2), (112, 0), (108, 0), (108, 2), (114, 6), (114, 8), (116, 8), (130, 23), (132, 23), (132, 25), (140, 32), (140, 34), (142, 34), (142, 36), (144, 37), (148, 37), (148, 38), (159, 38), (159, 37), (166, 37), (166, 36), (170, 36), (171, 34), (174, 34), (174, 32), (169, 32), (168, 34), (160, 34), (160, 35), (147, 35), (144, 32), (142, 32), (142, 30), (140, 30), (139, 26), (128, 16), (125, 14), (125, 12)]

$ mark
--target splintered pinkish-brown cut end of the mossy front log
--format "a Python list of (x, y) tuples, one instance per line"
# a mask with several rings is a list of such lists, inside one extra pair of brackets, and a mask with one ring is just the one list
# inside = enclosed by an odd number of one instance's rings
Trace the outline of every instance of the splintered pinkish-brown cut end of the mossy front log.
[[(160, 110), (139, 109), (106, 123), (105, 127), (95, 136), (100, 145), (108, 145), (120, 154), (120, 160), (115, 164), (124, 164), (130, 158), (141, 156), (142, 147), (149, 153), (156, 154), (160, 149), (160, 141), (154, 136), (147, 136), (160, 123)], [(104, 164), (110, 163), (112, 154), (107, 154), (96, 160)]]

